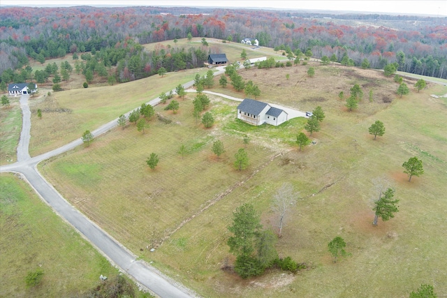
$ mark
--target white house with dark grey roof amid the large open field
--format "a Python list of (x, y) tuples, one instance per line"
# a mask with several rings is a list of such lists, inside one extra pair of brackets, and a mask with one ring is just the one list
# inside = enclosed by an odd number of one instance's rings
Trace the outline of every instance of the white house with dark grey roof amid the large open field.
[(245, 98), (237, 106), (237, 119), (256, 126), (265, 123), (278, 126), (287, 121), (287, 117), (286, 111), (250, 98)]

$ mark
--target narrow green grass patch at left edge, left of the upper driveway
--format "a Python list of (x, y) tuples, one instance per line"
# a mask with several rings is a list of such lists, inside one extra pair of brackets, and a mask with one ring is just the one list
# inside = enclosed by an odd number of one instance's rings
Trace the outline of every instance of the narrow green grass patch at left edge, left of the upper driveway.
[(17, 145), (22, 131), (19, 98), (9, 98), (10, 107), (0, 108), (0, 164), (17, 161)]

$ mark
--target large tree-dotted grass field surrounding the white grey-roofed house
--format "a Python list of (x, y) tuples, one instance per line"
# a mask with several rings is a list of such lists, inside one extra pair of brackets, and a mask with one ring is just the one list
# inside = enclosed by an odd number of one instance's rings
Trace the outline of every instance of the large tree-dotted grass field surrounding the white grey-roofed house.
[[(40, 170), (124, 245), (205, 297), (407, 297), (422, 283), (447, 292), (447, 107), (444, 99), (430, 97), (446, 88), (430, 85), (418, 93), (406, 80), (411, 94), (398, 98), (393, 79), (374, 70), (314, 64), (310, 78), (304, 75), (309, 66), (241, 71), (258, 84), (261, 100), (302, 111), (323, 107), (321, 131), (312, 134), (316, 144), (302, 152), (293, 140), (304, 119), (255, 128), (235, 121), (237, 103), (213, 97), (217, 122), (205, 130), (192, 117), (189, 94), (177, 99), (177, 114), (156, 107), (172, 124), (154, 119), (144, 135), (135, 126), (116, 128)], [(353, 84), (365, 95), (348, 112), (338, 94), (349, 96)], [(235, 94), (230, 87), (213, 91)], [(373, 140), (368, 127), (376, 120), (386, 134)], [(251, 136), (250, 166), (238, 172), (233, 156), (244, 146), (244, 133)], [(212, 154), (214, 140), (226, 148), (221, 158)], [(181, 144), (188, 149), (183, 158)], [(155, 170), (145, 164), (152, 152), (160, 156)], [(425, 174), (408, 182), (402, 163), (412, 156), (423, 160)], [(400, 211), (373, 227), (379, 178), (395, 188)], [(251, 202), (265, 228), (276, 229), (272, 197), (284, 182), (293, 184), (298, 202), (277, 250), (309, 269), (270, 271), (247, 281), (221, 270), (234, 260), (226, 245), (232, 212)], [(352, 256), (334, 264), (327, 245), (336, 236)]]

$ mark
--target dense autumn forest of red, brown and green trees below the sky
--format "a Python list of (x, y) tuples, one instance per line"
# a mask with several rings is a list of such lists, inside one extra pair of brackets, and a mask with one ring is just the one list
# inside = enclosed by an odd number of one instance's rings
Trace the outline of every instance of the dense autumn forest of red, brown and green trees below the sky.
[(161, 67), (170, 71), (201, 66), (212, 48), (161, 48), (148, 53), (140, 46), (193, 36), (234, 42), (256, 38), (261, 46), (310, 51), (316, 58), (349, 57), (356, 66), (367, 59), (371, 68), (394, 63), (398, 70), (447, 78), (446, 23), (447, 17), (281, 10), (2, 7), (0, 73), (3, 82), (27, 80), (31, 75), (24, 70), (21, 78), (12, 73), (24, 69), (30, 57), (44, 62), (91, 52), (96, 59), (83, 57), (83, 73), (117, 66), (115, 80), (126, 82)]

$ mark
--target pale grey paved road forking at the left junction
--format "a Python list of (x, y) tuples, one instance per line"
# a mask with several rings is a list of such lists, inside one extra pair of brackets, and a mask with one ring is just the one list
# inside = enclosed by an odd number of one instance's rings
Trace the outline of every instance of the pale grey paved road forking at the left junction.
[[(31, 131), (31, 113), (29, 112), (28, 98), (29, 96), (22, 96), (22, 98), (20, 98), (23, 124), (19, 146), (17, 147), (17, 163), (1, 166), (0, 172), (17, 172), (22, 174), (22, 177), (29, 182), (36, 193), (38, 193), (38, 195), (40, 195), (41, 198), (43, 198), (43, 200), (45, 200), (45, 202), (59, 214), (59, 216), (68, 221), (68, 223), (71, 223), (75, 229), (84, 235), (91, 244), (96, 246), (96, 248), (98, 248), (98, 250), (112, 263), (135, 278), (138, 283), (144, 285), (154, 294), (159, 297), (196, 297), (196, 294), (191, 290), (174, 281), (169, 281), (167, 277), (162, 276), (160, 272), (156, 271), (156, 269), (150, 267), (142, 260), (136, 260), (136, 255), (133, 255), (133, 253), (122, 246), (122, 244), (99, 228), (98, 225), (81, 214), (42, 177), (36, 167), (39, 162), (79, 146), (82, 144), (82, 140), (75, 140), (63, 147), (31, 158), (28, 151)], [(156, 104), (158, 102), (159, 98), (156, 98), (149, 103)], [(96, 131), (93, 132), (93, 135), (101, 135), (115, 126), (117, 126), (116, 119), (96, 129)]]

